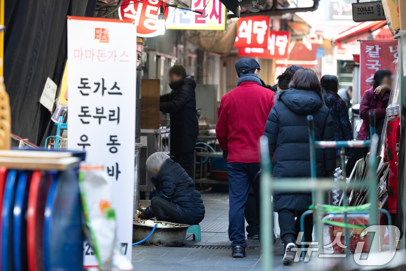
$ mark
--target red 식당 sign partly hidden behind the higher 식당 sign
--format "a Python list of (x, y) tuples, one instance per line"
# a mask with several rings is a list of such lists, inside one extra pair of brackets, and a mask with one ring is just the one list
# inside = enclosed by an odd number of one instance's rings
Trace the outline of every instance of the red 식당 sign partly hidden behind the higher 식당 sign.
[(242, 57), (260, 57), (268, 59), (286, 59), (288, 57), (289, 32), (269, 31), (267, 48), (238, 48)]

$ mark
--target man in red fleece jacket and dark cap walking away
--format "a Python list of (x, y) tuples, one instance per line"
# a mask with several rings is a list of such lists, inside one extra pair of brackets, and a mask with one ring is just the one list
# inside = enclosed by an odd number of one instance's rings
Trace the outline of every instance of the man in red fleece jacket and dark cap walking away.
[(244, 206), (250, 184), (256, 197), (259, 218), (259, 183), (254, 181), (260, 169), (258, 141), (274, 105), (275, 93), (262, 87), (258, 76), (260, 68), (255, 59), (238, 60), (235, 70), (237, 87), (221, 98), (216, 134), (228, 163), (229, 238), (233, 258), (242, 258), (247, 246)]

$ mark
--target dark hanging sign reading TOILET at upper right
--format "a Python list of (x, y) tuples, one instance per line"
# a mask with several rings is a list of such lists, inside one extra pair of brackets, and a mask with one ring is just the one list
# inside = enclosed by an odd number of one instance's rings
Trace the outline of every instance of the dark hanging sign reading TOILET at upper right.
[(354, 22), (385, 21), (382, 1), (353, 3), (352, 20)]

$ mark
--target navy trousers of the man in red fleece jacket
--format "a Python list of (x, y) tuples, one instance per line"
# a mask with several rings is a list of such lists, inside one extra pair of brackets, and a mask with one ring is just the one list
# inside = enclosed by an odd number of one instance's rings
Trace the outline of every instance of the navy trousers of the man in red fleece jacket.
[(231, 246), (246, 247), (244, 209), (248, 198), (250, 184), (256, 199), (256, 210), (259, 221), (259, 182), (255, 182), (255, 175), (261, 168), (259, 163), (228, 163), (229, 179), (229, 239)]

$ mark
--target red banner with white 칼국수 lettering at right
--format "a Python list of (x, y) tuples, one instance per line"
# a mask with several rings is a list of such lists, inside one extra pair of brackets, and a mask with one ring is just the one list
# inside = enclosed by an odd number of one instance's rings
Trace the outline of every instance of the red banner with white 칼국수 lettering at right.
[(397, 40), (361, 41), (361, 97), (371, 87), (377, 70), (395, 72), (398, 55)]

